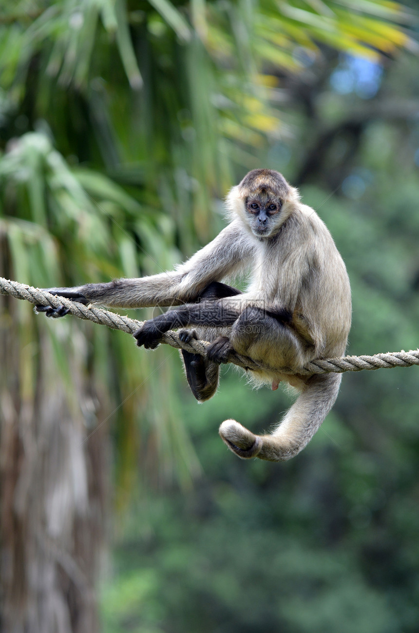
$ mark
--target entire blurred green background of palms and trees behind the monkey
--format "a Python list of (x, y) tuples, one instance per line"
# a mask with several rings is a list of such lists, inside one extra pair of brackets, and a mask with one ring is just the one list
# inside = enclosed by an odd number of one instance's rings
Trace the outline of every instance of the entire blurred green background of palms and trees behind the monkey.
[[(171, 269), (266, 166), (346, 261), (349, 353), (416, 349), (418, 9), (3, 0), (0, 275)], [(229, 366), (198, 405), (177, 351), (0, 306), (2, 633), (419, 630), (418, 368), (346, 373), (303, 453), (241, 461), (218, 424), (287, 394)]]

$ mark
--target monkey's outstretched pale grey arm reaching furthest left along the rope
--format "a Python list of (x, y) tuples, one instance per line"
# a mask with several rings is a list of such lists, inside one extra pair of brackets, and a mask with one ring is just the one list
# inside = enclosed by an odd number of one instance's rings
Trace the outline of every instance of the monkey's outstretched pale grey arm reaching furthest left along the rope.
[[(49, 292), (85, 304), (101, 303), (122, 308), (180, 305), (196, 301), (208, 284), (240, 270), (253, 248), (240, 223), (232, 222), (175, 271), (73, 288), (51, 288)], [(62, 316), (59, 310), (49, 310), (46, 306), (43, 311), (47, 316)]]

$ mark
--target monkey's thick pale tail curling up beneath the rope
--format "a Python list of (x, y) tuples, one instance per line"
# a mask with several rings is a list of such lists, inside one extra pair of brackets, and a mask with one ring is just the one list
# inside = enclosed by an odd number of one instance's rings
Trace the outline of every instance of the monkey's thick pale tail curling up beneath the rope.
[(230, 451), (249, 459), (284, 461), (299, 453), (320, 427), (339, 392), (340, 373), (316, 374), (271, 435), (256, 436), (235, 420), (225, 420), (220, 436)]

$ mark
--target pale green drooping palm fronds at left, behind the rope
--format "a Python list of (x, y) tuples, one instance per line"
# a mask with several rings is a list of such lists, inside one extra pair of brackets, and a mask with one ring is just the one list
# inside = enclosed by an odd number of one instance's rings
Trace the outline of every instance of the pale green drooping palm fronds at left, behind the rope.
[[(153, 251), (149, 249), (145, 256), (144, 248), (138, 244), (141, 239), (149, 240), (159, 252), (165, 253), (166, 261), (162, 257), (161, 263), (168, 268), (178, 259), (172, 246), (173, 226), (167, 218), (156, 222), (151, 211), (101, 173), (87, 168), (71, 170), (45, 134), (32, 132), (13, 142), (0, 160), (0, 182), (4, 192), (0, 227), (8, 254), (4, 274), (13, 279), (25, 279), (39, 287), (78, 285), (91, 279), (137, 276), (143, 261), (145, 272), (155, 272), (158, 265)], [(139, 423), (145, 446), (149, 442), (156, 446), (156, 463), (161, 465), (159, 476), (165, 479), (175, 472), (186, 485), (191, 473), (199, 472), (181, 423), (165, 401), (156, 398), (161, 406), (149, 411), (149, 398), (153, 394), (146, 392), (141, 409), (133, 410), (135, 392), (160, 368), (164, 356), (147, 354), (139, 362), (134, 341), (122, 333), (109, 335), (101, 330), (93, 334), (89, 326), (86, 329), (85, 324), (70, 320), (56, 323), (56, 328), (49, 327), (43, 318), (34, 320), (30, 306), (17, 308), (25, 327), (25, 334), (22, 332), (25, 340), (37, 339), (37, 329), (51, 339), (54, 363), (65, 377), (69, 402), (77, 378), (71, 377), (62, 358), (72, 348), (76, 331), (84, 339), (94, 360), (97, 379), (109, 384), (109, 393), (115, 398), (115, 434), (118, 447), (125, 451), (123, 460), (118, 461), (118, 480), (125, 482), (122, 489), (132, 486), (137, 472), (134, 448), (138, 443), (135, 429)], [(102, 348), (108, 349), (107, 356)], [(22, 375), (30, 380), (36, 371), (37, 358), (22, 358), (22, 363), (33, 363), (31, 372), (22, 366)], [(173, 367), (170, 360), (167, 365)], [(165, 372), (167, 367), (161, 369), (162, 380)], [(150, 457), (152, 452), (149, 448)]]

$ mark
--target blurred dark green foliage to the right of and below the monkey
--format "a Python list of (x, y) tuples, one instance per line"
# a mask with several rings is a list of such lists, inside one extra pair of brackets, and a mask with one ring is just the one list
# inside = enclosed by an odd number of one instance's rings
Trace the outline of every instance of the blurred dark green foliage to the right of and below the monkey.
[[(365, 111), (358, 150), (346, 163), (351, 142), (342, 141), (337, 127), (325, 155), (317, 154), (318, 172), (301, 186), (303, 201), (318, 209), (347, 263), (354, 308), (349, 353), (418, 346), (419, 135), (417, 122), (399, 125), (385, 115), (386, 94), (403, 85), (401, 75), (411, 90), (416, 64), (401, 58), (387, 73), (375, 99), (381, 120), (370, 118), (368, 101), (347, 97), (342, 122), (355, 106)], [(327, 125), (323, 104), (336, 99), (344, 105), (329, 90), (326, 84), (317, 97), (313, 137)], [(292, 115), (299, 131), (289, 141), (291, 151), (274, 144), (270, 166), (284, 169), (284, 157), (298, 156), (299, 135), (311, 120), (300, 104)], [(343, 144), (340, 161), (336, 142)], [(343, 175), (330, 197), (325, 182), (341, 163)], [(291, 182), (299, 168), (293, 158)], [(356, 181), (342, 187), (349, 176), (365, 187), (355, 189)], [(237, 460), (222, 448), (216, 428), (234, 417), (266, 430), (289, 399), (250, 391), (231, 368), (224, 373), (216, 398), (198, 405), (185, 395), (183, 405), (203, 479), (190, 494), (170, 491), (139, 501), (115, 550), (110, 591), (115, 578), (142, 578), (142, 570), (147, 575), (153, 568), (158, 577), (147, 605), (158, 600), (159, 611), (131, 605), (125, 615), (132, 630), (415, 632), (417, 368), (345, 374), (334, 411), (310, 446), (277, 466)], [(106, 613), (105, 630), (125, 630), (122, 615)]]

